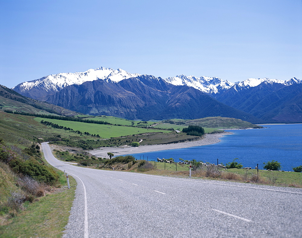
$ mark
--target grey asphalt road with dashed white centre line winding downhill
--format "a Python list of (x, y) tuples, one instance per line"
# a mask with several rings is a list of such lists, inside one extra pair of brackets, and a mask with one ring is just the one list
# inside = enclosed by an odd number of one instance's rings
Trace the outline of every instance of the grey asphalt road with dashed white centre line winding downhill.
[(302, 237), (302, 189), (81, 168), (63, 237)]

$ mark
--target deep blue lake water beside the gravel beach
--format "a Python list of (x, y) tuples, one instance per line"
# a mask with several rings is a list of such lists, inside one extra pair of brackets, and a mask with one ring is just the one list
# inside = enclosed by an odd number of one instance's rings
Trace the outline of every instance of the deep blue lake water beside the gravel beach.
[(263, 162), (276, 160), (281, 163), (282, 170), (292, 171), (292, 167), (302, 165), (302, 124), (266, 125), (265, 129), (226, 130), (234, 133), (224, 136), (221, 142), (194, 146), (183, 149), (161, 150), (133, 154), (137, 159), (153, 161), (156, 158), (179, 158), (197, 160), (217, 164), (226, 164), (234, 158), (243, 167), (263, 168)]

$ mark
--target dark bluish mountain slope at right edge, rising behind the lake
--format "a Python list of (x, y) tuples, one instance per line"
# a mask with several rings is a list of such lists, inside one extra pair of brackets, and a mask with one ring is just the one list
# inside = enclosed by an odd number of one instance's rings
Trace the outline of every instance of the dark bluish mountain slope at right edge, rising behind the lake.
[(258, 86), (228, 89), (216, 99), (268, 122), (302, 122), (302, 84), (263, 82)]

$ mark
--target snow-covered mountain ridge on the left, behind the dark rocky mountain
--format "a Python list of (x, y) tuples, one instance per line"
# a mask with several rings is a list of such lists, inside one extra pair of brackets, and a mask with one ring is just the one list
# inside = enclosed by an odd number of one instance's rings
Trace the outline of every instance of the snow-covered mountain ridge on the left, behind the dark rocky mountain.
[(89, 69), (85, 72), (51, 74), (40, 79), (20, 83), (12, 89), (23, 96), (41, 100), (43, 99), (43, 96), (40, 94), (41, 91), (54, 93), (72, 84), (81, 85), (84, 82), (98, 79), (116, 83), (123, 79), (137, 77), (139, 75), (140, 74), (130, 74), (122, 69), (114, 70), (100, 67), (97, 69)]

